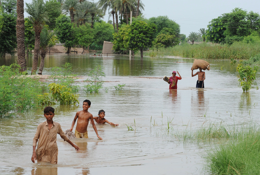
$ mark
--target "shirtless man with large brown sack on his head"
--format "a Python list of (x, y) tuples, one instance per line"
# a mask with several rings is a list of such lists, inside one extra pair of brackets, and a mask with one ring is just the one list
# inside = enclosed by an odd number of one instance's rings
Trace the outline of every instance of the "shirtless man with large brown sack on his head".
[[(205, 72), (203, 70), (210, 70), (210, 64), (201, 59), (195, 59), (191, 68), (191, 76), (194, 77), (198, 75), (198, 80), (196, 84), (196, 88), (204, 88), (204, 80), (206, 79)], [(199, 72), (193, 75), (193, 70), (199, 69)]]

